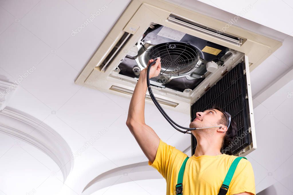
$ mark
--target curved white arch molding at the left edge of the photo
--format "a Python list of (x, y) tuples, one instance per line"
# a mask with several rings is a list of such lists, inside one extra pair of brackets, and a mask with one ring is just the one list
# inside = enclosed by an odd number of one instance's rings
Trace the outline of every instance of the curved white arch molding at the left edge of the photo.
[(54, 129), (27, 113), (5, 107), (0, 111), (0, 133), (17, 137), (47, 154), (59, 166), (65, 182), (74, 160), (69, 145)]

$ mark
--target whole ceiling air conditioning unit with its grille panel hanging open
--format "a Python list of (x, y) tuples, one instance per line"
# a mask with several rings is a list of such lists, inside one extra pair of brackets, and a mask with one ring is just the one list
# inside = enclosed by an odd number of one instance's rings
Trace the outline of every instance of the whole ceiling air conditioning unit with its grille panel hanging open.
[[(226, 25), (166, 1), (132, 0), (75, 83), (131, 98), (148, 60), (161, 57), (161, 74), (150, 79), (160, 105), (191, 119), (221, 106), (249, 131), (233, 153), (248, 154), (256, 148), (249, 71), (282, 43), (234, 25), (223, 32)], [(148, 91), (146, 100), (153, 104)]]

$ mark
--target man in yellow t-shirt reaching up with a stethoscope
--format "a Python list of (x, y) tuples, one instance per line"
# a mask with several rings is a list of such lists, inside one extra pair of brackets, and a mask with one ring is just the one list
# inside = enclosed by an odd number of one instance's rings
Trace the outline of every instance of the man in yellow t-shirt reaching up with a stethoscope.
[[(154, 60), (149, 60), (147, 67)], [(150, 69), (149, 78), (158, 76), (161, 71), (160, 59)], [(149, 165), (154, 167), (166, 179), (166, 194), (176, 194), (176, 184), (180, 167), (188, 156), (175, 147), (163, 142), (154, 130), (145, 124), (144, 104), (147, 91), (147, 68), (140, 73), (128, 110), (126, 125), (135, 137), (144, 154), (149, 159)], [(197, 112), (191, 127), (222, 126), (222, 128), (206, 128), (193, 130), (197, 146), (185, 166), (183, 175), (183, 193), (185, 195), (206, 195), (219, 193), (224, 178), (237, 156), (222, 154), (221, 148), (236, 137), (236, 123), (220, 108)], [(229, 127), (229, 128), (227, 128)], [(231, 144), (231, 143), (230, 143)], [(226, 193), (255, 195), (255, 180), (251, 163), (241, 159)]]

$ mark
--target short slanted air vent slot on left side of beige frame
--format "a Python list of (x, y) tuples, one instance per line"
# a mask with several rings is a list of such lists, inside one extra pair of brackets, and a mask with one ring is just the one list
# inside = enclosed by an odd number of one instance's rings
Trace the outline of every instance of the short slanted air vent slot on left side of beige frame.
[(127, 41), (132, 37), (132, 34), (128, 32), (124, 32), (122, 37), (119, 39), (117, 44), (114, 46), (114, 48), (110, 51), (109, 55), (105, 58), (105, 60), (100, 65), (100, 71), (105, 72), (111, 62), (116, 58), (116, 56), (120, 53), (120, 51), (123, 49)]

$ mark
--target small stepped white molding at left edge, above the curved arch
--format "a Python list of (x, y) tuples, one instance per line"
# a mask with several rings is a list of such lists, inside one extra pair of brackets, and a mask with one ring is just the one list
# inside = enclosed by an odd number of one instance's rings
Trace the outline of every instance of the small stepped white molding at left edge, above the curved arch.
[(5, 108), (16, 88), (17, 84), (0, 80), (0, 110)]

